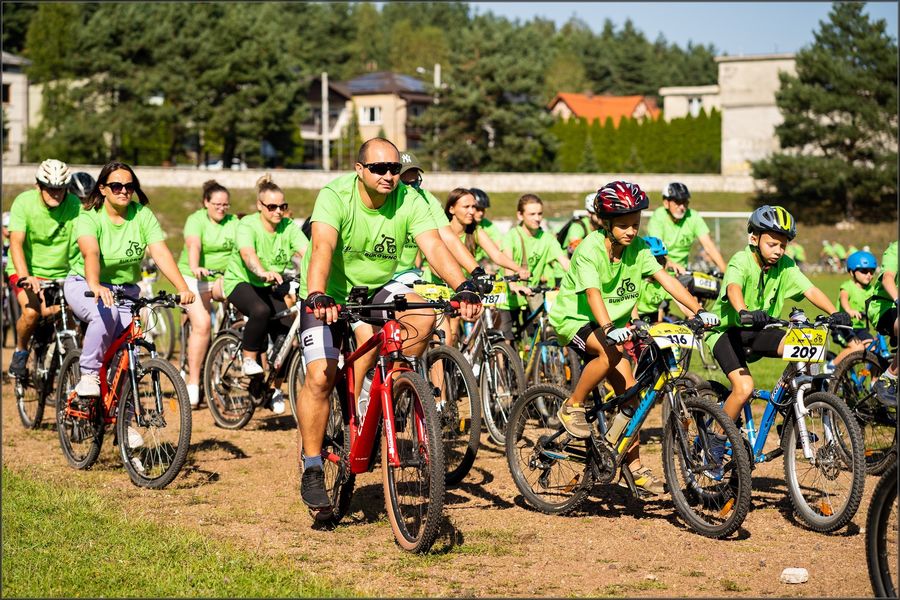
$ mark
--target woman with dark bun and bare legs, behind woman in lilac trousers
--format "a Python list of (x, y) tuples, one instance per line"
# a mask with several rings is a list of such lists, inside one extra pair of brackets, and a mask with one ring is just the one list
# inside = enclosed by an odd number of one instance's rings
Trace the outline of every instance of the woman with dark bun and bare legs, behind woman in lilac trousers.
[(228, 214), (230, 206), (228, 190), (211, 179), (203, 184), (203, 208), (188, 216), (184, 223), (184, 249), (178, 260), (178, 270), (194, 292), (194, 301), (187, 308), (191, 321), (187, 389), (193, 407), (200, 403), (200, 372), (209, 347), (212, 300), (225, 297), (222, 278), (212, 277), (210, 272), (224, 273), (234, 249), (238, 219)]

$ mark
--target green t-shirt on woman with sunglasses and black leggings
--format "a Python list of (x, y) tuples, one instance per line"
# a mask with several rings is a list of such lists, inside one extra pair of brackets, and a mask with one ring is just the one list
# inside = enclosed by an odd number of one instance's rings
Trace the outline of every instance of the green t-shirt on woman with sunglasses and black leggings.
[[(225, 270), (223, 282), (225, 295), (229, 296), (241, 282), (256, 287), (270, 285), (247, 269), (244, 259), (241, 258), (242, 248), (253, 248), (264, 270), (281, 273), (293, 264), (291, 258), (294, 254), (302, 251), (308, 244), (309, 240), (303, 235), (303, 231), (294, 225), (292, 219), (287, 217), (281, 219), (275, 227), (275, 232), (269, 233), (263, 227), (259, 213), (247, 215), (238, 221), (235, 249), (229, 256), (228, 267)], [(306, 270), (303, 269), (300, 273), (302, 277)]]

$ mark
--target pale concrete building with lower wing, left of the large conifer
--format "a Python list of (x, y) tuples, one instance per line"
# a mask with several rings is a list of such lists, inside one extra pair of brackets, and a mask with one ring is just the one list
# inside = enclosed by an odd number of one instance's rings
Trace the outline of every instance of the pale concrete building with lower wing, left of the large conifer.
[(746, 176), (750, 163), (779, 150), (775, 127), (784, 118), (775, 104), (780, 72), (795, 75), (793, 54), (719, 56), (718, 85), (660, 88), (666, 120), (722, 112), (722, 175)]

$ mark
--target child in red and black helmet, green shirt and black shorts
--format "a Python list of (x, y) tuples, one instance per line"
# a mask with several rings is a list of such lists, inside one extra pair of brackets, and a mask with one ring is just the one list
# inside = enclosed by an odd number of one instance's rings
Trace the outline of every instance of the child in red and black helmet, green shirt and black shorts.
[[(616, 394), (635, 385), (621, 345), (631, 338), (631, 330), (625, 325), (637, 304), (637, 288), (642, 279), (652, 276), (705, 325), (718, 323), (715, 315), (702, 312), (697, 301), (666, 273), (647, 243), (638, 237), (641, 211), (648, 204), (641, 188), (625, 181), (608, 183), (597, 192), (594, 206), (601, 228), (588, 234), (575, 249), (571, 267), (550, 310), (550, 324), (556, 329), (559, 343), (570, 345), (585, 362), (572, 396), (557, 415), (573, 437), (590, 436), (584, 403), (604, 378), (608, 378)], [(637, 438), (626, 460), (638, 487), (653, 494), (664, 492), (662, 481), (642, 466)]]

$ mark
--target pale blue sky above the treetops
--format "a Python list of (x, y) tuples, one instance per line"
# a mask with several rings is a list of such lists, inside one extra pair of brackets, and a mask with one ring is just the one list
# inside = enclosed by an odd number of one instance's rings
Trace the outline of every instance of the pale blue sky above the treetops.
[[(605, 19), (621, 29), (626, 19), (653, 41), (661, 32), (682, 48), (712, 44), (720, 54), (796, 52), (813, 41), (830, 2), (470, 2), (470, 14), (488, 11), (510, 20), (552, 19), (558, 25), (572, 16), (599, 32)], [(887, 21), (897, 40), (898, 3), (870, 2), (870, 18)]]

